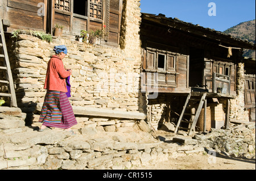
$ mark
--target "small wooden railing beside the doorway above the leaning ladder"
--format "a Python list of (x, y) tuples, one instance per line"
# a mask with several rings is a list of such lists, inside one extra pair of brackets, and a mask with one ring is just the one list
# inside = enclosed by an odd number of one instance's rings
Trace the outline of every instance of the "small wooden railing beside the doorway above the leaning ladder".
[(205, 85), (207, 85), (209, 92), (230, 94), (231, 80), (229, 75), (222, 75), (218, 73), (205, 75)]

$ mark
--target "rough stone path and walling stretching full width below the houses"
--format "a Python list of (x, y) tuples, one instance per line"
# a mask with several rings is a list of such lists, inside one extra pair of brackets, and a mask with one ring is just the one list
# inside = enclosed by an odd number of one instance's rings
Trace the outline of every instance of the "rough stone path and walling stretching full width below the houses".
[(193, 137), (166, 131), (151, 134), (137, 127), (130, 132), (82, 128), (71, 135), (57, 128), (38, 132), (36, 125), (24, 127), (19, 111), (2, 111), (0, 117), (0, 169), (133, 169), (211, 148), (234, 157), (255, 157), (255, 124)]

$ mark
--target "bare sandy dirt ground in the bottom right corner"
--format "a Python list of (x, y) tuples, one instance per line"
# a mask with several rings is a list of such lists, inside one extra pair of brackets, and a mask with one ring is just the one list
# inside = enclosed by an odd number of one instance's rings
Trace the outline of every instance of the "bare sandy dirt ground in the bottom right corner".
[(183, 154), (156, 164), (134, 167), (138, 170), (255, 170), (255, 159), (233, 158), (217, 154)]

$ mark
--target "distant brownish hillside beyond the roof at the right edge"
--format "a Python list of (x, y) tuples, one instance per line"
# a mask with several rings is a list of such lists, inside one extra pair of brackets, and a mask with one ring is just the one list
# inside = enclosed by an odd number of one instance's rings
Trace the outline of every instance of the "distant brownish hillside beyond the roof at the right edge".
[[(255, 19), (237, 24), (237, 26), (225, 30), (224, 33), (255, 44)], [(243, 56), (255, 58), (255, 50), (245, 50)]]

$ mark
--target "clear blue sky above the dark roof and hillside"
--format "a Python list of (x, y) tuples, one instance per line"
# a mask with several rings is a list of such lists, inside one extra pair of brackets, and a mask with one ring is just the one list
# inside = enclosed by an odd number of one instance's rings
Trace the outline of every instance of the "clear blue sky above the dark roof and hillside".
[[(216, 5), (216, 16), (208, 15), (213, 8), (208, 7), (210, 2)], [(255, 19), (255, 0), (141, 0), (141, 12), (162, 13), (168, 18), (176, 17), (205, 28), (225, 31)]]

